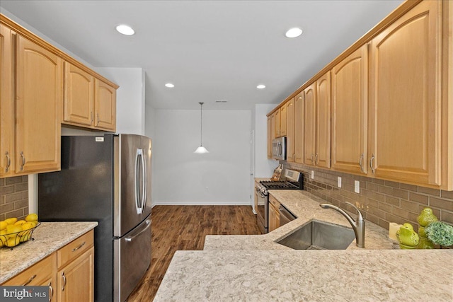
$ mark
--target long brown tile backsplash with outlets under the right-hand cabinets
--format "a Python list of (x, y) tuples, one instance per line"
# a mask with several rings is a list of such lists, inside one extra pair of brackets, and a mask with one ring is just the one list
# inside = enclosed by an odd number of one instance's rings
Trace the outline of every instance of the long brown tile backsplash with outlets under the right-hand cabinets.
[[(304, 173), (304, 190), (354, 213), (352, 207), (345, 205), (345, 202), (350, 202), (361, 209), (365, 219), (382, 228), (388, 229), (390, 222), (408, 222), (418, 230), (417, 217), (425, 207), (432, 208), (439, 220), (453, 223), (452, 191), (367, 178), (299, 163), (280, 163), (284, 168)], [(309, 178), (311, 170), (314, 170), (314, 179)], [(341, 187), (337, 187), (338, 176), (341, 177)], [(360, 193), (354, 192), (355, 180), (360, 181)]]

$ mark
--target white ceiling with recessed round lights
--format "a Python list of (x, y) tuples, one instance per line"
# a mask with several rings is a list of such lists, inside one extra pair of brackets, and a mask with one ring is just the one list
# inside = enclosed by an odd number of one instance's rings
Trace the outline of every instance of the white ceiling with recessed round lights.
[[(204, 109), (237, 110), (280, 103), (401, 2), (1, 0), (0, 6), (93, 66), (143, 68), (147, 103), (156, 109), (205, 102)], [(136, 34), (117, 33), (120, 23)], [(302, 36), (285, 37), (292, 27)], [(266, 88), (258, 90), (259, 83)]]

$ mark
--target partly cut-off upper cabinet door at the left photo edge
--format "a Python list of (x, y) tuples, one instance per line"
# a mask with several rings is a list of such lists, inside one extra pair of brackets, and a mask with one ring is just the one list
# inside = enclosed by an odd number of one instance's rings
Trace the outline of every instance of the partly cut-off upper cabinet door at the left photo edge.
[(14, 90), (13, 32), (0, 25), (0, 177), (13, 175)]

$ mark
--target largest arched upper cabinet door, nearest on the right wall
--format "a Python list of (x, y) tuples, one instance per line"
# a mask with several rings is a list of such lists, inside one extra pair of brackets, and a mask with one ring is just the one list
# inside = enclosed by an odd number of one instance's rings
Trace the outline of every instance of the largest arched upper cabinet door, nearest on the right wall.
[(423, 1), (372, 40), (369, 144), (379, 178), (440, 185), (440, 7)]

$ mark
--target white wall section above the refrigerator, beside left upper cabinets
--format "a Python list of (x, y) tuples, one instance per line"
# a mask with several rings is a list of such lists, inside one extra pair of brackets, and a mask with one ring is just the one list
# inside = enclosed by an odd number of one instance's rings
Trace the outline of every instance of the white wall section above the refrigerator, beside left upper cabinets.
[(144, 135), (144, 71), (141, 68), (97, 68), (116, 83), (116, 132)]

